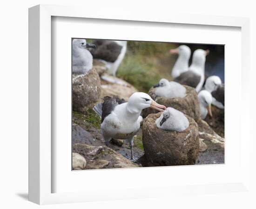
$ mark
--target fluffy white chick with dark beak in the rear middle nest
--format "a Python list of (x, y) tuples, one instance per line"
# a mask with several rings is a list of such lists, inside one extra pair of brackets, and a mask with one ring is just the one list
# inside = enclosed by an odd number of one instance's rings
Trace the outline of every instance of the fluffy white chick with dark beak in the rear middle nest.
[(165, 78), (162, 78), (158, 84), (154, 85), (155, 95), (157, 97), (166, 97), (166, 98), (174, 98), (174, 97), (185, 97), (186, 96), (186, 88), (175, 82), (168, 81)]

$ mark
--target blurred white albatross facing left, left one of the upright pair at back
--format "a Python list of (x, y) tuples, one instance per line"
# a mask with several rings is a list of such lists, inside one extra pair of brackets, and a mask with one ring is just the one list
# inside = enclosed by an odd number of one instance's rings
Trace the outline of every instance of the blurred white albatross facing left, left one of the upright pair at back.
[(176, 60), (172, 69), (172, 78), (177, 78), (182, 72), (189, 70), (189, 58), (191, 50), (189, 46), (181, 45), (175, 49), (169, 51), (171, 54), (178, 54), (178, 59)]

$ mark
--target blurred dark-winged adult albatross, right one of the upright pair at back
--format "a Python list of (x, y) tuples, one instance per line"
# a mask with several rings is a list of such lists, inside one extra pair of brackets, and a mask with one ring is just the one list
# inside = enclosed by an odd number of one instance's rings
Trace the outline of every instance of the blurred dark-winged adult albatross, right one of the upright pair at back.
[(189, 85), (195, 88), (196, 92), (199, 92), (202, 89), (204, 82), (205, 57), (208, 54), (209, 50), (195, 50), (189, 70), (181, 73), (180, 76), (175, 78), (173, 81), (176, 81), (182, 85)]

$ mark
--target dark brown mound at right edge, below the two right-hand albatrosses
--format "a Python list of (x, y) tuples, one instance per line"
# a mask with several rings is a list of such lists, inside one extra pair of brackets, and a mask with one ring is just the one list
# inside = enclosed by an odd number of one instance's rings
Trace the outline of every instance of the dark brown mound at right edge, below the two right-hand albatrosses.
[(225, 111), (215, 105), (211, 106), (212, 118), (207, 115), (204, 119), (210, 127), (221, 137), (224, 137)]

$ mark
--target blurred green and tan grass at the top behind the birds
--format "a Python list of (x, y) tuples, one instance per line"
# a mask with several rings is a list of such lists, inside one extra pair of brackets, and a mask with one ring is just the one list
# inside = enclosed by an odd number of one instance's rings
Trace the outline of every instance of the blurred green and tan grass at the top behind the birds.
[(117, 71), (117, 77), (126, 80), (139, 91), (148, 90), (161, 78), (170, 79), (173, 65), (168, 51), (176, 47), (169, 43), (128, 41), (127, 53)]

